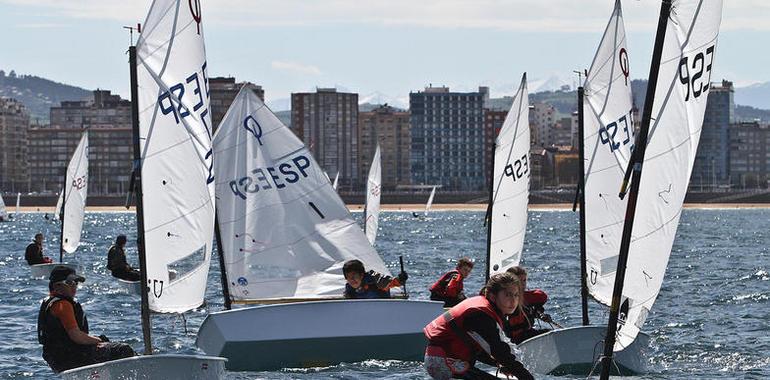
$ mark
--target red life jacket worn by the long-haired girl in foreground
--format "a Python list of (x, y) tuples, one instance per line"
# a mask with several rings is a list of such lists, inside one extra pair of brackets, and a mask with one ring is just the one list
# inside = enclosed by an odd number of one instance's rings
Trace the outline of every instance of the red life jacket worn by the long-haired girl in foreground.
[(447, 357), (474, 362), (476, 352), (481, 348), (468, 335), (464, 322), (468, 315), (479, 311), (487, 314), (501, 329), (503, 328), (502, 318), (486, 297), (471, 297), (425, 326), (423, 332), (428, 338), (429, 345), (443, 348)]

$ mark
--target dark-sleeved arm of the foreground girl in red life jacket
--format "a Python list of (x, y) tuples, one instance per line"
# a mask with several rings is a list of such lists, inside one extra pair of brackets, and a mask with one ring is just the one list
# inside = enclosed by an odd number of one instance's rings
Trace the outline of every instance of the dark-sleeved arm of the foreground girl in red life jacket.
[(516, 360), (511, 349), (511, 341), (490, 316), (483, 312), (469, 315), (465, 319), (465, 329), (482, 351), (495, 360), (503, 373), (516, 376), (519, 380), (533, 379), (524, 365)]

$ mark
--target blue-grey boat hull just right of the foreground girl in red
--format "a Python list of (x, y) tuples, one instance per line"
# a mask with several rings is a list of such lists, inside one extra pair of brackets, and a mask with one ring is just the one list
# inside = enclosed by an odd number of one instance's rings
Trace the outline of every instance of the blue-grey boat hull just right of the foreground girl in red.
[[(578, 326), (538, 335), (519, 344), (522, 363), (536, 374), (587, 376), (604, 350), (606, 333), (606, 326)], [(649, 340), (647, 334), (640, 333), (630, 346), (615, 353), (620, 374), (646, 372)]]

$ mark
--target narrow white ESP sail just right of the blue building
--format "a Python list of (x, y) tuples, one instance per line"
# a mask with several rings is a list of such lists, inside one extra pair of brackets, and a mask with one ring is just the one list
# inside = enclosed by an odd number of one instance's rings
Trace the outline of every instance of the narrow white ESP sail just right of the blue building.
[(529, 203), (529, 99), (527, 74), (495, 140), (489, 274), (516, 266), (524, 249)]

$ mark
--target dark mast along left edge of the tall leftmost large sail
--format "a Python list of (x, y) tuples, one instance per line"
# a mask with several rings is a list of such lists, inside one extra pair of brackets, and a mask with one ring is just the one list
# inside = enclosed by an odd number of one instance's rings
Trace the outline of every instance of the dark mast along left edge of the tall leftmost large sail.
[(144, 354), (152, 355), (152, 326), (150, 302), (147, 295), (147, 257), (144, 247), (144, 214), (142, 206), (142, 152), (139, 145), (139, 87), (137, 84), (136, 46), (128, 48), (128, 62), (131, 66), (131, 123), (134, 130), (134, 192), (136, 192), (136, 245), (139, 250), (139, 268), (142, 272), (142, 337)]

